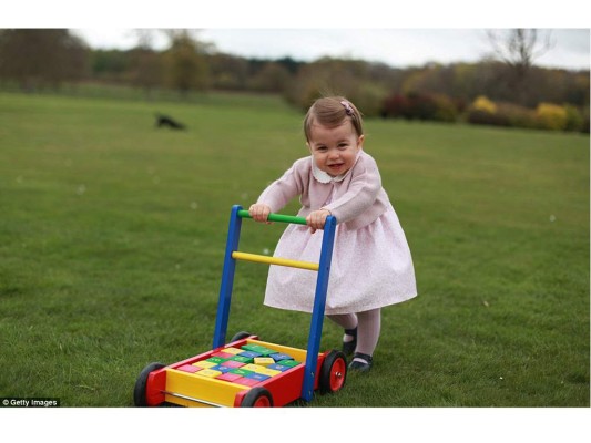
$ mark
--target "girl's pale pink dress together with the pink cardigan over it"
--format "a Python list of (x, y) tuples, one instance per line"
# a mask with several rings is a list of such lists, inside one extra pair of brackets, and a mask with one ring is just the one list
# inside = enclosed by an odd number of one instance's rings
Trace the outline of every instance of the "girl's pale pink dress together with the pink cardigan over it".
[[(374, 158), (360, 151), (338, 177), (318, 169), (312, 157), (300, 158), (257, 203), (277, 213), (297, 195), (299, 216), (326, 208), (337, 218), (325, 313), (363, 312), (417, 296), (410, 249)], [(310, 234), (307, 226), (289, 225), (274, 256), (318, 262), (322, 236), (322, 230)], [(312, 312), (316, 278), (316, 271), (271, 266), (264, 303)]]

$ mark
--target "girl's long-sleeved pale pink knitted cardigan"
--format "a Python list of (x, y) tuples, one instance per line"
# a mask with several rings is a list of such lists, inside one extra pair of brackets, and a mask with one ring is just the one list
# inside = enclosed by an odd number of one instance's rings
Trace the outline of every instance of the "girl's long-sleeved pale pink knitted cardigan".
[(349, 229), (359, 229), (376, 220), (391, 208), (376, 161), (364, 151), (342, 181), (322, 183), (313, 174), (312, 156), (297, 159), (281, 178), (272, 183), (257, 203), (268, 205), (272, 213), (279, 212), (299, 195), (302, 208), (298, 216), (306, 217), (320, 208), (330, 210), (337, 223)]

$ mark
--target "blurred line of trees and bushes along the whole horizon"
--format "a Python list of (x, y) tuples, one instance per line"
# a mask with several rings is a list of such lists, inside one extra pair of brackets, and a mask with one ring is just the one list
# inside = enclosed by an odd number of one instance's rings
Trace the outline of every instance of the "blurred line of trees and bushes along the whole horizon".
[[(536, 66), (531, 30), (512, 34), (505, 49), (513, 54), (404, 69), (353, 59), (247, 59), (222, 53), (187, 30), (165, 32), (164, 50), (153, 49), (150, 35), (139, 31), (137, 45), (123, 51), (89, 48), (67, 29), (0, 30), (0, 82), (24, 91), (101, 82), (142, 89), (146, 96), (162, 89), (181, 96), (216, 90), (273, 93), (300, 109), (319, 94), (338, 93), (367, 116), (528, 127), (548, 126), (538, 114), (552, 109), (564, 120), (552, 128), (589, 132), (589, 71)], [(500, 53), (503, 48), (496, 44)], [(492, 106), (482, 107), (483, 101)]]

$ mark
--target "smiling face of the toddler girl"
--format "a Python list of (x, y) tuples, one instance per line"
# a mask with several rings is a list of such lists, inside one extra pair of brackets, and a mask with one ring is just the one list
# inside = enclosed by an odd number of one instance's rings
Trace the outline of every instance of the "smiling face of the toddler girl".
[(357, 136), (348, 120), (336, 127), (313, 124), (307, 145), (316, 166), (336, 177), (353, 167), (357, 153), (363, 148), (364, 136)]

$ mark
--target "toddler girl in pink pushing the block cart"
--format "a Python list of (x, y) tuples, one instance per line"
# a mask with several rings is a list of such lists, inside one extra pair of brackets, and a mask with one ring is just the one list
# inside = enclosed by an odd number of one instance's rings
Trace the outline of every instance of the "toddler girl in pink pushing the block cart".
[[(266, 222), (299, 196), (298, 216), (307, 225), (289, 225), (274, 255), (317, 261), (328, 215), (337, 220), (326, 316), (345, 329), (343, 351), (349, 369), (368, 371), (380, 332), (380, 308), (417, 295), (412, 258), (405, 234), (381, 187), (376, 162), (363, 150), (359, 111), (340, 96), (318, 99), (304, 120), (310, 156), (297, 159), (248, 209)], [(272, 266), (265, 305), (312, 312), (316, 274)]]

